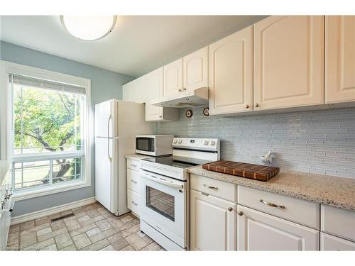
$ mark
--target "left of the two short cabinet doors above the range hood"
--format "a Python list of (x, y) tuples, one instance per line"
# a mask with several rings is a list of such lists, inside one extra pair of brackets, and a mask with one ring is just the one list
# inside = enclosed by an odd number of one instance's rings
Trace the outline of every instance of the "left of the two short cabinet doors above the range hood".
[(173, 96), (182, 92), (182, 58), (164, 66), (163, 96)]

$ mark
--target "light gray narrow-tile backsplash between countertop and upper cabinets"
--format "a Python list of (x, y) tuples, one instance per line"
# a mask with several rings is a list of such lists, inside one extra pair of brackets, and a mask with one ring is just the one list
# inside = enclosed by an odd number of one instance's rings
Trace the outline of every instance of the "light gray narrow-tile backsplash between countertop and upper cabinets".
[(275, 153), (281, 169), (355, 178), (355, 108), (253, 116), (192, 118), (159, 123), (159, 133), (180, 137), (219, 138), (222, 159), (262, 164)]

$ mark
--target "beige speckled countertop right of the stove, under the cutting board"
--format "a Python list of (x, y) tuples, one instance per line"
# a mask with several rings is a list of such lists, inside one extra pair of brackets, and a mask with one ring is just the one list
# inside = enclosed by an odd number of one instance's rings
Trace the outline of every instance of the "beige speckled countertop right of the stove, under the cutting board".
[(355, 179), (351, 178), (281, 170), (275, 177), (262, 182), (204, 170), (201, 166), (191, 167), (188, 172), (267, 192), (292, 196), (297, 199), (326, 204), (348, 211), (355, 211)]

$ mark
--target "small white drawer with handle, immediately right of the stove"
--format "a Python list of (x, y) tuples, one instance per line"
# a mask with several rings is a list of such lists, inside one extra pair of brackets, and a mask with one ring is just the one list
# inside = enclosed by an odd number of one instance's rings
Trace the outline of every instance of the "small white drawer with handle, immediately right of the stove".
[(191, 174), (190, 187), (220, 199), (236, 202), (236, 184)]

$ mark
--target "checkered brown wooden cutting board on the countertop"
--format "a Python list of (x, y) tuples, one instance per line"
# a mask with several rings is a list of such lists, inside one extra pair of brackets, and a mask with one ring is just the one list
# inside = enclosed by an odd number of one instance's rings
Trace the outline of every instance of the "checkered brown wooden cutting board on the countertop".
[(239, 177), (246, 177), (260, 181), (268, 181), (280, 172), (279, 167), (266, 165), (253, 165), (245, 162), (233, 162), (219, 160), (202, 165), (202, 168), (209, 171), (232, 174)]

